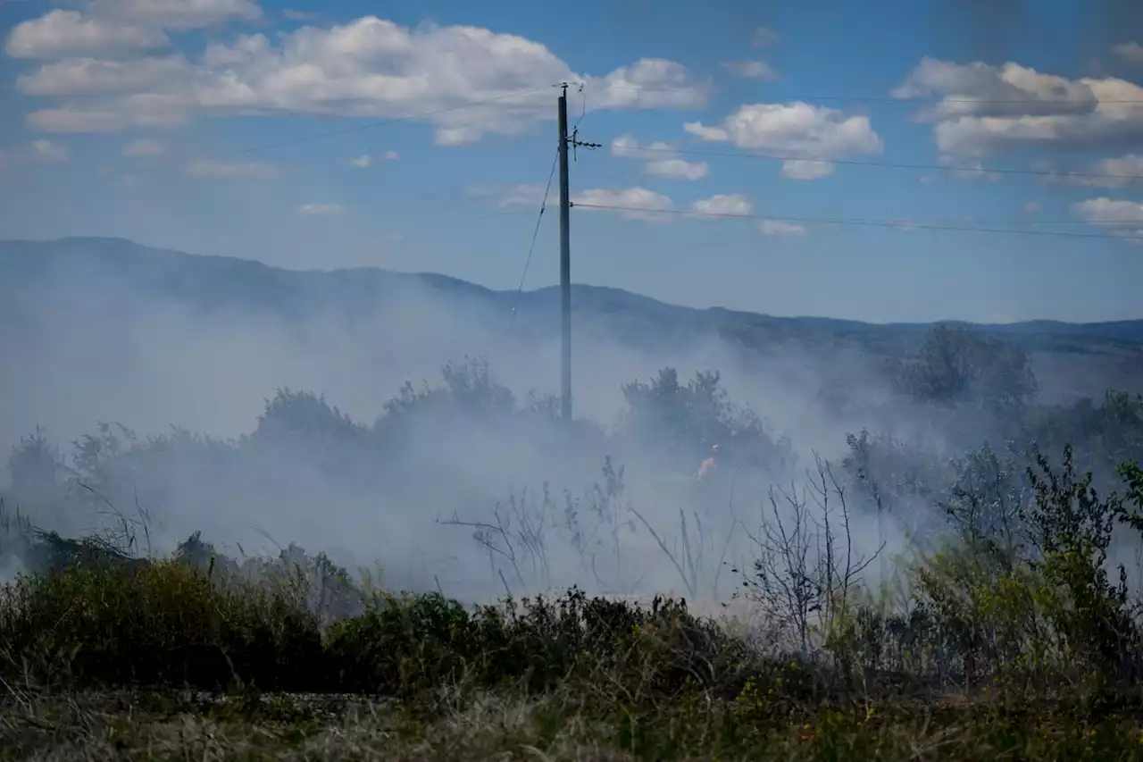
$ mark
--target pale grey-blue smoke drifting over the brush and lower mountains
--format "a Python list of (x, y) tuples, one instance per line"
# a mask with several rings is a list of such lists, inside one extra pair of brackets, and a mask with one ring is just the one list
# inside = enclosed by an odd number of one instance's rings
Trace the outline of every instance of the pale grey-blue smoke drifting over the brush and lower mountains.
[[(147, 539), (161, 553), (201, 530), (227, 553), (298, 542), (351, 569), (381, 563), (393, 585), (440, 585), (470, 597), (501, 594), (504, 585), (605, 581), (608, 592), (679, 590), (686, 574), (668, 550), (686, 551), (686, 509), (690, 540), (705, 553), (705, 569), (692, 580), (697, 587), (703, 577), (704, 587), (690, 593), (725, 597), (732, 574), (718, 570), (749, 561), (737, 522), (757, 523), (769, 484), (793, 479), (796, 491), (805, 490), (815, 452), (836, 462), (852, 454), (847, 432), (920, 437), (952, 455), (1000, 430), (991, 413), (934, 413), (894, 396), (885, 362), (916, 348), (924, 335), (916, 326), (680, 311), (623, 292), (577, 288), (574, 403), (582, 424), (568, 446), (543, 405), (509, 414), (495, 386), (514, 392), (520, 408), (529, 391), (557, 387), (551, 291), (525, 294), (513, 319), (514, 294), (440, 277), (289, 272), (106, 239), (0, 244), (0, 446), (10, 452), (42, 426), (70, 462), (67, 443), (101, 422), (134, 430), (134, 454), (109, 452), (111, 440), (93, 445), (98, 452), (89, 446), (85, 452), (95, 458), (85, 478), (106, 477), (89, 486), (110, 493), (102, 497), (125, 514), (134, 514), (136, 501), (149, 511)], [(1021, 338), (1013, 326), (994, 330)], [(1056, 374), (1041, 386), (1063, 388), (1086, 372), (1093, 378), (1080, 383), (1082, 391), (1098, 397), (1114, 386), (1109, 378), (1138, 368), (1138, 343), (1103, 335), (1127, 330), (1092, 326), (1061, 339), (1029, 328), (1022, 340)], [(483, 386), (489, 379), (479, 363), (465, 366), (466, 358), (487, 360), (494, 386)], [(467, 368), (453, 376), (455, 407), (408, 397), (401, 408), (408, 424), (401, 410), (385, 412), (406, 382), (414, 392), (422, 381), (441, 387), (449, 363)], [(694, 430), (680, 423), (679, 438), (666, 436), (656, 428), (662, 421), (632, 412), (624, 395), (624, 384), (647, 382), (664, 367), (676, 368), (684, 386), (696, 373), (720, 372), (729, 399), (753, 410), (764, 426), (728, 412), (726, 420), (737, 423)], [(347, 420), (306, 397), (279, 398), (288, 404), (272, 411), (267, 400), (279, 389), (323, 395)], [(830, 402), (831, 390), (845, 399)], [(644, 397), (647, 410), (653, 397)], [(427, 412), (416, 412), (418, 405)], [(706, 420), (700, 413), (687, 420)], [(170, 434), (171, 426), (232, 442), (143, 442)], [(744, 430), (754, 438), (744, 439)], [(714, 486), (696, 483), (700, 460), (719, 439), (726, 458), (741, 462)], [(119, 446), (126, 445), (120, 434)], [(606, 481), (607, 457), (626, 471), (622, 493), (601, 499), (591, 485)], [(596, 506), (593, 525), (614, 532), (600, 530), (596, 566), (575, 549), (583, 527), (567, 523), (565, 490), (580, 500), (570, 511), (575, 521), (591, 514), (593, 499), (607, 503)], [(624, 513), (628, 500), (638, 514)], [(73, 494), (58, 505), (25, 500), (22, 508), (46, 529), (75, 534), (111, 521), (98, 502), (75, 502)], [(495, 524), (497, 506), (504, 515), (518, 511), (502, 529), (531, 532), (515, 540), (515, 558), (489, 549), (495, 542), (487, 538), (483, 546), (473, 539), (474, 531), (490, 531), (475, 525)], [(529, 521), (546, 529), (528, 529)], [(703, 537), (695, 540), (700, 521)], [(904, 525), (927, 521), (894, 519), (885, 539), (900, 549)], [(871, 516), (860, 514), (853, 531), (858, 551), (872, 554), (878, 530)], [(604, 567), (612, 562), (614, 569)], [(720, 573), (718, 588), (710, 587)]]

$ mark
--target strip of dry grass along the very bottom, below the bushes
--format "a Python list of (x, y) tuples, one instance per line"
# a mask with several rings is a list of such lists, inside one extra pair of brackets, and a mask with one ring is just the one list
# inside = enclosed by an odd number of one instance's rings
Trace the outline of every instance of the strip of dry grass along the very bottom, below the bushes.
[[(822, 712), (788, 727), (743, 725), (720, 708), (693, 724), (590, 719), (574, 697), (482, 694), (433, 717), (350, 696), (224, 699), (187, 693), (22, 697), (0, 709), (0, 760), (1136, 760), (1143, 725), (960, 706)], [(678, 708), (678, 707), (677, 707)], [(733, 741), (733, 743), (732, 743)]]

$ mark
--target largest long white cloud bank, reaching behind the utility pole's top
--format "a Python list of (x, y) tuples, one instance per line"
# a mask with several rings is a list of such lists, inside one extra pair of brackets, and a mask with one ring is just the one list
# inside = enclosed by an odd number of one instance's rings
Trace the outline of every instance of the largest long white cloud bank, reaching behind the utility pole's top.
[[(208, 17), (253, 17), (249, 8), (256, 8), (240, 0), (101, 2), (139, 3), (145, 8), (139, 17), (183, 26)], [(22, 78), (21, 88), (61, 102), (29, 122), (54, 132), (113, 132), (169, 127), (199, 114), (384, 119), (435, 111), (426, 120), (435, 126), (437, 141), (459, 144), (488, 133), (520, 134), (553, 119), (552, 82), (584, 82), (592, 111), (702, 108), (709, 93), (685, 66), (661, 58), (581, 77), (545, 46), (519, 35), (475, 26), (408, 29), (374, 16), (328, 29), (301, 26), (272, 39), (239, 35), (189, 59), (193, 63), (173, 57), (119, 68), (101, 62), (41, 68)], [(535, 92), (519, 95), (529, 88)], [(466, 105), (479, 101), (487, 103)]]

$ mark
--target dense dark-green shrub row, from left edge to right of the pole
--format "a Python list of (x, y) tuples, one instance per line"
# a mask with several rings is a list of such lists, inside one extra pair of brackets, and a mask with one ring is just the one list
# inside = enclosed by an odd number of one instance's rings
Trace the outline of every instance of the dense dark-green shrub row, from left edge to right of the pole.
[(439, 594), (362, 594), (360, 613), (323, 624), (303, 577), (237, 571), (192, 538), (169, 561), (85, 558), (22, 577), (0, 593), (0, 677), (405, 698), (610, 680), (652, 700), (714, 688), (750, 662), (741, 642), (681, 602), (645, 609), (570, 590), (470, 612)]

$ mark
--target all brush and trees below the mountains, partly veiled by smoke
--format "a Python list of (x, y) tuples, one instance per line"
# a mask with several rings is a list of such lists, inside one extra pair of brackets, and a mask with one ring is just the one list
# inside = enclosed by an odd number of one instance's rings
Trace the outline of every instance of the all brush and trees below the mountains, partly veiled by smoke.
[[(545, 415), (536, 399), (519, 411), (486, 370), (405, 389), (373, 428), (283, 392), (253, 438), (368, 449), (421, 415)], [(608, 459), (567, 510), (545, 491), (441, 522), (491, 558), (505, 588), (491, 604), (400, 593), (297, 546), (231, 557), (194, 534), (144, 553), (145, 522), (70, 539), (9, 502), (0, 559), (24, 571), (0, 592), (0, 759), (1140, 759), (1143, 609), (1125, 559), (1143, 548), (1143, 399), (1037, 405), (1021, 352), (946, 330), (888, 374), (950, 438), (984, 411), (1004, 446), (977, 438), (951, 457), (855, 432), (845, 458), (816, 459), (802, 486), (770, 487), (757, 519), (729, 523), (752, 549), (740, 561), (697, 513), (669, 535)], [(624, 394), (615, 452), (646, 442), (686, 460), (687, 443), (714, 439), (737, 445), (744, 469), (792, 473), (789, 442), (730, 405), (714, 374), (681, 383), (666, 370)], [(127, 467), (176, 446), (111, 434), (77, 443), (70, 487), (42, 434), (29, 437), (11, 494), (38, 500), (37, 516), (110, 505)], [(337, 452), (313, 457), (352, 478)], [(872, 521), (905, 526), (908, 551), (855, 549), (854, 526)], [(686, 600), (512, 594), (566, 579), (553, 537), (586, 579), (623, 579), (636, 533)], [(710, 609), (719, 576), (736, 593)]]

